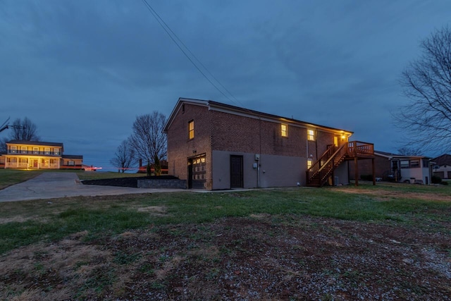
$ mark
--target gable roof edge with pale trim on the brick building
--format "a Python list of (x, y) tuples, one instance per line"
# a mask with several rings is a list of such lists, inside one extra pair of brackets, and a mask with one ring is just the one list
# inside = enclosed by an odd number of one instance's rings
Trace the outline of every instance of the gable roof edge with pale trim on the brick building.
[(197, 106), (206, 106), (208, 107), (209, 111), (222, 111), (225, 113), (231, 113), (235, 115), (240, 116), (246, 116), (249, 118), (258, 118), (261, 120), (266, 121), (278, 121), (280, 123), (291, 123), (291, 124), (297, 124), (297, 125), (304, 125), (306, 127), (312, 127), (312, 128), (321, 128), (323, 130), (331, 130), (331, 131), (340, 131), (349, 133), (350, 135), (353, 134), (353, 132), (349, 130), (342, 130), (340, 128), (331, 128), (326, 125), (319, 125), (316, 123), (309, 123), (306, 121), (299, 121), (294, 118), (286, 118), (283, 116), (277, 116), (270, 113), (264, 113), (260, 111), (254, 111), (251, 109), (245, 109), (240, 106), (232, 106), (230, 104), (223, 104), (221, 102), (214, 102), (212, 100), (202, 100), (202, 99), (190, 99), (190, 98), (183, 98), (180, 97), (178, 99), (177, 104), (175, 105), (173, 111), (171, 112), (171, 115), (168, 118), (168, 121), (166, 122), (166, 125), (164, 126), (163, 133), (168, 133), (168, 128), (171, 126), (171, 123), (173, 123), (173, 120), (175, 116), (177, 115), (178, 111), (182, 108), (183, 104), (194, 104)]

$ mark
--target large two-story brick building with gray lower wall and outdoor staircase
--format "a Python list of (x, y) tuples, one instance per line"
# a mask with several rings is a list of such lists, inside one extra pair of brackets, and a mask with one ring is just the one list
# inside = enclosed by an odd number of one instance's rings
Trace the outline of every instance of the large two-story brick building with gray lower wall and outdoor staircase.
[(168, 172), (207, 190), (347, 184), (347, 160), (373, 153), (347, 130), (199, 99), (178, 99), (164, 133)]

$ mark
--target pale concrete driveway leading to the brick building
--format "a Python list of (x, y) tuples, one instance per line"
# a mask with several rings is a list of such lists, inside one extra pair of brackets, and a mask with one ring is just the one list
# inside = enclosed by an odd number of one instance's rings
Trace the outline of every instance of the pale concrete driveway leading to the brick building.
[(80, 195), (128, 195), (133, 193), (175, 192), (175, 189), (147, 189), (116, 186), (82, 185), (76, 173), (42, 173), (23, 183), (0, 190), (0, 202), (27, 199), (54, 199)]

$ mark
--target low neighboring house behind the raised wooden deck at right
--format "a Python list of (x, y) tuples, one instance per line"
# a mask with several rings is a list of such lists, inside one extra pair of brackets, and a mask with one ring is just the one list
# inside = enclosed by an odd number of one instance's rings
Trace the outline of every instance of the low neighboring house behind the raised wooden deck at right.
[[(430, 184), (432, 177), (431, 158), (426, 156), (403, 156), (388, 152), (374, 152), (375, 176), (378, 180), (403, 183)], [(359, 174), (371, 175), (371, 161), (359, 162)], [(350, 178), (354, 179), (354, 164), (350, 164)]]

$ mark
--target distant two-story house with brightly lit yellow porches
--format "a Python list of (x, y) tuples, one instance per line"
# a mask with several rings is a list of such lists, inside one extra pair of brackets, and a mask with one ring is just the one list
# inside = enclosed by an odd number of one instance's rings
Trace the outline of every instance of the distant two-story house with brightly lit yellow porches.
[(63, 154), (63, 143), (11, 140), (1, 154), (4, 168), (81, 169), (83, 156)]

